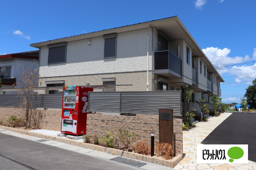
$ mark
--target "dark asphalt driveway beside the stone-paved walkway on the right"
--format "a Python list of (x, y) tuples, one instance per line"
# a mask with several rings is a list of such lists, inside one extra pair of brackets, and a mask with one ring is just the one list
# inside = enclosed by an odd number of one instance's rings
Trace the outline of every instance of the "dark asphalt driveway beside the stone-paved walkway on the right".
[(232, 113), (202, 144), (248, 144), (248, 159), (256, 162), (256, 113)]

